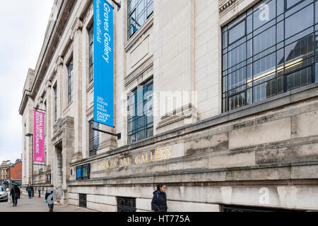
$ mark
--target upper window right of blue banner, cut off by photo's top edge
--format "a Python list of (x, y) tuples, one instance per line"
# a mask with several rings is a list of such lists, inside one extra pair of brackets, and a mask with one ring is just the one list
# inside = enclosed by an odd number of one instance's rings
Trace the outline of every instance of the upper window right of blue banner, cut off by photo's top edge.
[(153, 13), (153, 0), (128, 1), (128, 34), (130, 38)]

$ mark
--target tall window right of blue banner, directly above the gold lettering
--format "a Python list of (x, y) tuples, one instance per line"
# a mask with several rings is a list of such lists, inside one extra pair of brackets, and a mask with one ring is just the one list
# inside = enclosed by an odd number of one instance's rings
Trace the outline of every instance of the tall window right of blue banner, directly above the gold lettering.
[(128, 103), (129, 143), (153, 136), (153, 79), (134, 90)]

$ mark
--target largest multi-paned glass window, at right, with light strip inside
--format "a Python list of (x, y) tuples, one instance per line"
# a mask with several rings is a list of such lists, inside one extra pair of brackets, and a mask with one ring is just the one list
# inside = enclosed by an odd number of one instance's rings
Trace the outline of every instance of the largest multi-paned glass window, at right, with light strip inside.
[(223, 112), (318, 82), (316, 13), (314, 0), (266, 0), (222, 28)]

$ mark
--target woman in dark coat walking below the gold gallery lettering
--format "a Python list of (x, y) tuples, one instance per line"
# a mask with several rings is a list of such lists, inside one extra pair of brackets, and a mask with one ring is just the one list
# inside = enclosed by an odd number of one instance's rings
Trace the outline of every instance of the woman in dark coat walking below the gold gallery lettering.
[(165, 194), (166, 189), (166, 184), (158, 184), (157, 190), (153, 192), (151, 210), (155, 210), (155, 212), (167, 212), (167, 195)]

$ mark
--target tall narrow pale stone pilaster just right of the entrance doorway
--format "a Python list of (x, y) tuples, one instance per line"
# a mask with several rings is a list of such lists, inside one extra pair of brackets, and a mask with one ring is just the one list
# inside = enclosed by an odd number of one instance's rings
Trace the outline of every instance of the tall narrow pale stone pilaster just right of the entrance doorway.
[[(82, 154), (82, 27), (83, 23), (76, 18), (72, 26), (71, 40), (73, 40), (73, 109), (74, 109), (74, 153), (73, 162), (81, 160)], [(85, 80), (84, 80), (85, 81)]]

